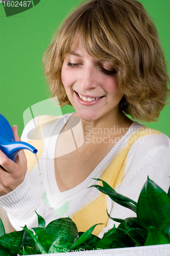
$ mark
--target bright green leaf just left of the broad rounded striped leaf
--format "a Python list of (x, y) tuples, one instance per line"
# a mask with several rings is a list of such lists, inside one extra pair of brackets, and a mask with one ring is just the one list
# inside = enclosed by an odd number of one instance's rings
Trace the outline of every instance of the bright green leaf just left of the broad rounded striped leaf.
[(48, 251), (55, 241), (53, 234), (50, 230), (42, 228), (42, 227), (35, 227), (32, 228), (36, 233), (36, 237), (38, 238), (39, 242), (42, 244), (45, 251)]

